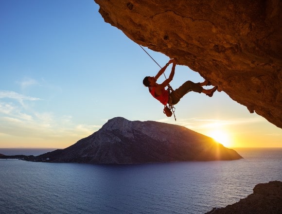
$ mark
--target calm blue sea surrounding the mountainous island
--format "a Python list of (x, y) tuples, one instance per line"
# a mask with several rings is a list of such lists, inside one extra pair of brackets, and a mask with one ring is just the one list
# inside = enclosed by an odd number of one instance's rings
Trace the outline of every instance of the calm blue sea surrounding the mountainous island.
[(204, 214), (247, 197), (258, 183), (282, 181), (282, 148), (235, 150), (244, 159), (126, 165), (0, 159), (0, 214)]

